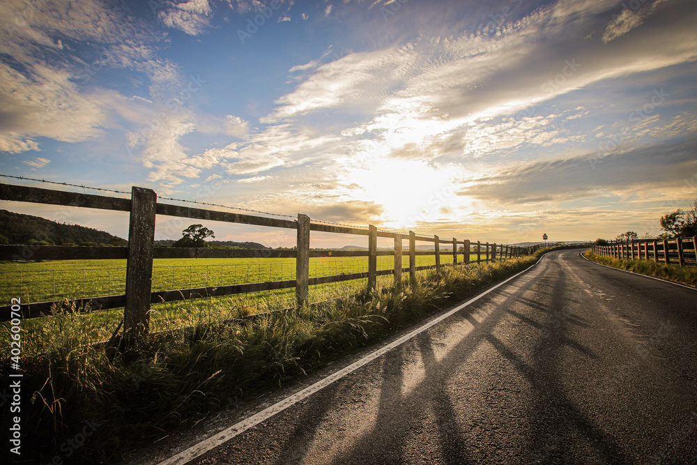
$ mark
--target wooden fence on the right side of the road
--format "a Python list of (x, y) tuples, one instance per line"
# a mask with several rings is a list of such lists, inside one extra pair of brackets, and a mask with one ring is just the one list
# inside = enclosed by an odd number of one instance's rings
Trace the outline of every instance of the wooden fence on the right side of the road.
[(697, 266), (697, 236), (659, 241), (608, 241), (607, 245), (593, 245), (595, 254), (626, 260), (653, 260), (680, 266)]

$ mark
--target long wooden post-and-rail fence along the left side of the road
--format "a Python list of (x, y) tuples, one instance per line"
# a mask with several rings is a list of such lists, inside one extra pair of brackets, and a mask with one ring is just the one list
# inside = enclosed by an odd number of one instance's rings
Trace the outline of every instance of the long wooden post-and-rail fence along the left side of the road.
[[(21, 305), (21, 311), (24, 318), (34, 318), (41, 317), (45, 314), (51, 314), (56, 306), (75, 306), (91, 311), (123, 307), (125, 330), (132, 333), (148, 330), (148, 311), (152, 303), (173, 302), (176, 300), (188, 300), (190, 298), (229, 296), (232, 294), (245, 294), (249, 292), (294, 287), (296, 289), (296, 305), (302, 306), (307, 303), (308, 287), (316, 284), (356, 280), (367, 277), (368, 288), (375, 289), (377, 276), (394, 275), (395, 283), (401, 284), (403, 272), (409, 273), (410, 282), (413, 284), (416, 281), (417, 270), (426, 268), (441, 269), (441, 244), (452, 245), (452, 252), (449, 251), (445, 253), (452, 254), (453, 264), (458, 263), (459, 255), (462, 256), (461, 263), (468, 264), (470, 262), (470, 247), (475, 245), (477, 262), (493, 261), (497, 258), (519, 257), (530, 254), (541, 247), (541, 245), (517, 247), (496, 243), (489, 244), (488, 242), (482, 243), (480, 241), (475, 243), (473, 241), (458, 240), (456, 238), (442, 239), (438, 236), (420, 236), (413, 231), (409, 231), (408, 234), (378, 231), (374, 226), (363, 229), (359, 227), (324, 224), (322, 222), (312, 222), (307, 215), (302, 214), (298, 214), (296, 220), (282, 220), (257, 215), (245, 215), (163, 204), (162, 202), (158, 202), (157, 195), (153, 190), (137, 187), (132, 188), (130, 199), (121, 199), (0, 183), (0, 200), (130, 212), (128, 247), (2, 245), (0, 246), (0, 260), (126, 259), (125, 294), (80, 298), (75, 300), (24, 303)], [(154, 243), (155, 215), (295, 229), (297, 231), (296, 250), (156, 248)], [(332, 250), (331, 252), (332, 257), (368, 257), (367, 272), (309, 277), (310, 257), (322, 257), (327, 253), (325, 251), (310, 249), (310, 231), (367, 236), (367, 251)], [(392, 250), (378, 250), (378, 237), (394, 238), (394, 248)], [(408, 250), (402, 249), (403, 240), (409, 241)], [(434, 244), (434, 251), (416, 250), (417, 241)], [(458, 247), (460, 246), (463, 247), (463, 250), (458, 252)], [(417, 255), (434, 254), (436, 257), (435, 265), (416, 266), (415, 257)], [(378, 270), (377, 257), (385, 255), (394, 256), (395, 266), (393, 269), (389, 270)], [(402, 267), (401, 261), (403, 255), (408, 255), (409, 257), (408, 268)], [(296, 279), (152, 291), (153, 259), (156, 258), (294, 258), (296, 259)], [(9, 319), (9, 310), (9, 305), (0, 306), (0, 321)]]

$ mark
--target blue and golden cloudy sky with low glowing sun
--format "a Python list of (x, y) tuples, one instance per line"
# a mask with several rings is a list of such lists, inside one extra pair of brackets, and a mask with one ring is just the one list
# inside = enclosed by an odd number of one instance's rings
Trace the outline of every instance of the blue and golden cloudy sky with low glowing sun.
[[(0, 18), (0, 174), (497, 243), (655, 235), (697, 197), (692, 0), (3, 0)], [(0, 208), (128, 235), (125, 213)]]

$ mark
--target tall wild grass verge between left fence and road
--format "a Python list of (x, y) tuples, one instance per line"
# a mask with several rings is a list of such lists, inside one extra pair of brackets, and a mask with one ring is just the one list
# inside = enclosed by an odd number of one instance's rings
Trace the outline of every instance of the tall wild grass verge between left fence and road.
[[(114, 462), (428, 317), (530, 266), (541, 252), (427, 270), (415, 287), (405, 280), (370, 293), (333, 289), (325, 301), (298, 310), (282, 310), (282, 298), (275, 309), (273, 300), (266, 303), (273, 311), (253, 316), (221, 301), (205, 312), (192, 306), (187, 325), (179, 316), (111, 360), (94, 344), (95, 334), (112, 330), (102, 320), (78, 313), (43, 318), (21, 333), (22, 455), (8, 456), (13, 463)], [(9, 326), (0, 331), (0, 343), (10, 346)], [(3, 379), (16, 372), (10, 363), (3, 351)], [(10, 426), (6, 415), (3, 434)]]

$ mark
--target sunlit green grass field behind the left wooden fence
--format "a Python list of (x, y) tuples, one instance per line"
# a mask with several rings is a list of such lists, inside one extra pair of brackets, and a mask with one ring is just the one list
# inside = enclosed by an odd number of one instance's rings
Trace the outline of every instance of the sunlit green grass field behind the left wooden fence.
[[(460, 260), (462, 256), (458, 257)], [(476, 261), (473, 254), (471, 260)], [(416, 257), (417, 266), (434, 265), (436, 258)], [(452, 264), (452, 254), (441, 254), (442, 264)], [(378, 270), (394, 267), (392, 257), (378, 257)], [(402, 259), (409, 266), (409, 257)], [(21, 297), (22, 303), (118, 295), (125, 293), (125, 260), (61, 260), (3, 262), (0, 264), (0, 302)], [(310, 277), (361, 273), (368, 270), (367, 257), (311, 258)], [(155, 259), (153, 291), (191, 287), (243, 284), (295, 279), (295, 259)], [(378, 287), (393, 284), (392, 275), (378, 276)], [(355, 294), (365, 289), (367, 280), (350, 280), (309, 287), (309, 302), (319, 302)], [(293, 307), (295, 289), (261, 291), (215, 298), (199, 298), (151, 306), (151, 328), (155, 331), (196, 326), (225, 318)], [(224, 311), (221, 309), (225, 309)], [(123, 317), (123, 308), (91, 314), (93, 341), (105, 340)], [(43, 325), (43, 319), (27, 319), (26, 329)]]

